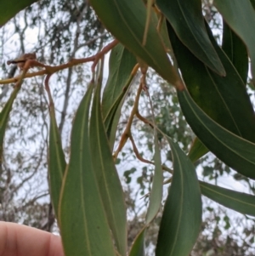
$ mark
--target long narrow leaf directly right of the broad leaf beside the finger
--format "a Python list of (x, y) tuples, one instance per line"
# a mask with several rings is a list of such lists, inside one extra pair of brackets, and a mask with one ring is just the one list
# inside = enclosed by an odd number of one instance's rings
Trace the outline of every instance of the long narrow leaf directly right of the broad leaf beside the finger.
[[(89, 145), (100, 196), (118, 252), (127, 254), (127, 220), (122, 185), (113, 162), (101, 116), (100, 86), (97, 85), (91, 111)], [(107, 254), (107, 253), (105, 253)], [(104, 254), (104, 255), (105, 255)]]

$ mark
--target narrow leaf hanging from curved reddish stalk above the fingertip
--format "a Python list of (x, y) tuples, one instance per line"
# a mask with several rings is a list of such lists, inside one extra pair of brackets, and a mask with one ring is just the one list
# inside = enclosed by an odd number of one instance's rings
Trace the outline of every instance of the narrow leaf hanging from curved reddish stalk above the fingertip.
[(62, 148), (59, 128), (56, 122), (54, 101), (49, 88), (46, 88), (49, 99), (49, 142), (48, 142), (48, 173), (50, 182), (50, 195), (52, 197), (54, 212), (59, 219), (59, 196), (65, 173), (66, 162), (65, 154)]

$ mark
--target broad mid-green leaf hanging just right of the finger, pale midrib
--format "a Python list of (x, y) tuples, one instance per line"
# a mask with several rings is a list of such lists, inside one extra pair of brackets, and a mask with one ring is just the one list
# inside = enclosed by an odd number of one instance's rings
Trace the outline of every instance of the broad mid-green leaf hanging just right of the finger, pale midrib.
[[(115, 256), (89, 143), (89, 106), (93, 84), (78, 107), (71, 131), (71, 156), (59, 201), (59, 227), (65, 256)], [(97, 127), (95, 127), (97, 128)]]

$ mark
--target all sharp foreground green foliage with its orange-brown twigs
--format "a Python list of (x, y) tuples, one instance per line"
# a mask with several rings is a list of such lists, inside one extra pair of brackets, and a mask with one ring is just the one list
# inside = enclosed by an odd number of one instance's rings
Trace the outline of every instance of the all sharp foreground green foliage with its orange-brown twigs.
[[(23, 1), (22, 6), (18, 0), (2, 2), (0, 26), (25, 7), (28, 15), (30, 5), (35, 1)], [(249, 0), (214, 0), (210, 8), (217, 9), (224, 20), (222, 43), (218, 43), (208, 25), (210, 20), (205, 19), (205, 3), (200, 1), (89, 2), (100, 22), (114, 37), (111, 43), (107, 41), (105, 48), (101, 42), (99, 48), (91, 46), (92, 54), (89, 56), (75, 58), (79, 47), (71, 54), (68, 50), (71, 43), (64, 38), (68, 58), (61, 55), (58, 48), (59, 52), (54, 53), (59, 55), (56, 57), (58, 65), (46, 65), (38, 54), (36, 60), (20, 57), (10, 61), (14, 65), (23, 61), (24, 68), (17, 77), (0, 81), (1, 84), (14, 82), (13, 93), (0, 113), (1, 165), (8, 157), (5, 156), (3, 140), (22, 82), (29, 81), (31, 77), (44, 78), (49, 124), (46, 123), (48, 148), (43, 151), (45, 154), (48, 152), (51, 200), (65, 255), (145, 255), (146, 237), (150, 236), (150, 228), (159, 218), (156, 246), (153, 248), (156, 256), (189, 256), (201, 232), (202, 195), (226, 208), (255, 217), (255, 196), (210, 185), (199, 180), (196, 174), (197, 161), (204, 161), (207, 152), (212, 152), (217, 157), (214, 162), (220, 162), (222, 172), (230, 172), (231, 168), (235, 177), (253, 185), (255, 116), (246, 85), (252, 88), (255, 81), (255, 10)], [(64, 1), (59, 1), (59, 6), (64, 5)], [(98, 20), (94, 21), (92, 9), (89, 7), (91, 23), (86, 17), (88, 24), (97, 24), (98, 31), (106, 37), (103, 26), (96, 23)], [(64, 12), (64, 8), (61, 11)], [(80, 26), (82, 14), (76, 14), (80, 17), (77, 34), (80, 35), (84, 29), (85, 35), (88, 33), (85, 25)], [(54, 15), (49, 16), (54, 20)], [(70, 20), (66, 26), (70, 31), (72, 22)], [(86, 42), (86, 37), (82, 40)], [(74, 41), (77, 43), (79, 39)], [(97, 54), (93, 53), (95, 49), (99, 50)], [(103, 88), (105, 54), (110, 51), (109, 77)], [(66, 153), (61, 134), (65, 118), (58, 126), (51, 82), (54, 74), (60, 74), (61, 81), (61, 77), (65, 78), (62, 72), (70, 74), (72, 69), (88, 62), (92, 63), (88, 71), (90, 81), (71, 122), (71, 142)], [(31, 71), (32, 67), (40, 70)], [(252, 77), (248, 76), (249, 68)], [(84, 74), (81, 71), (79, 75), (82, 77)], [(70, 86), (71, 75), (68, 79)], [(133, 82), (135, 79), (139, 82)], [(83, 92), (85, 80), (76, 79), (77, 84), (84, 85)], [(135, 83), (138, 88), (133, 88)], [(156, 89), (150, 89), (152, 84), (166, 90), (162, 98), (156, 97)], [(128, 94), (132, 94), (131, 104), (127, 104), (130, 100)], [(144, 99), (150, 110), (146, 117), (140, 107)], [(129, 105), (127, 109), (130, 112), (124, 127), (119, 128), (125, 104)], [(66, 108), (62, 113), (66, 113)], [(178, 121), (168, 122), (170, 116)], [(190, 128), (184, 118), (195, 134), (192, 144)], [(135, 125), (137, 120), (143, 128)], [(139, 154), (139, 141), (135, 139), (137, 131), (144, 134), (150, 160)], [(125, 190), (121, 181), (124, 177), (129, 185), (130, 175), (135, 170), (126, 170), (123, 177), (116, 170), (127, 141), (131, 142), (133, 155), (154, 167), (153, 177), (146, 184), (149, 189), (145, 189), (143, 175), (137, 179), (142, 193), (149, 193), (145, 195), (147, 212), (143, 225), (133, 237), (130, 247), (130, 242), (127, 244)], [(164, 155), (166, 149), (168, 155)], [(207, 176), (206, 171), (212, 167), (203, 167), (204, 176)], [(209, 173), (212, 174), (210, 170)], [(163, 196), (165, 185), (169, 185), (166, 198)], [(224, 218), (226, 223), (228, 218)]]

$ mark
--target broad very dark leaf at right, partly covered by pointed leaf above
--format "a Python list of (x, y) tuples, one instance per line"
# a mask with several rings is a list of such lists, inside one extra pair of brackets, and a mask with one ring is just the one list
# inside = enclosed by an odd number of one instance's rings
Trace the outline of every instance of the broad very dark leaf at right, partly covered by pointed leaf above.
[(224, 65), (226, 77), (219, 77), (210, 71), (178, 40), (169, 23), (167, 27), (178, 66), (195, 103), (224, 128), (255, 142), (254, 111), (245, 84), (229, 58), (218, 47), (212, 32), (207, 30), (212, 45)]

